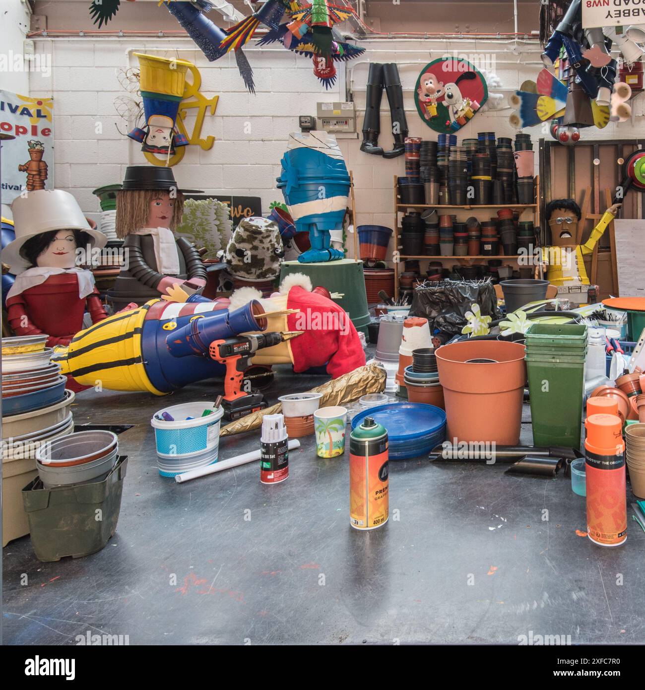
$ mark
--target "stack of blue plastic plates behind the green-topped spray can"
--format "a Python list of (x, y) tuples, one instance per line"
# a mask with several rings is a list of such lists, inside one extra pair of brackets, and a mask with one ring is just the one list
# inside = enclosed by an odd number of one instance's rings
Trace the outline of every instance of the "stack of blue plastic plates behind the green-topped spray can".
[(446, 413), (422, 402), (392, 402), (359, 412), (352, 420), (355, 429), (365, 417), (372, 417), (388, 431), (390, 443), (408, 442), (440, 432), (446, 424)]

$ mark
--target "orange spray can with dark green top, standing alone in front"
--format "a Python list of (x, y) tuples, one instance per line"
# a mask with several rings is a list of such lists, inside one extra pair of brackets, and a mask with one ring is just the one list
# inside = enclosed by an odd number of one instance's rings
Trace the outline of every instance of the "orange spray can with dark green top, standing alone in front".
[(388, 432), (365, 417), (350, 435), (349, 515), (355, 529), (375, 529), (388, 521)]

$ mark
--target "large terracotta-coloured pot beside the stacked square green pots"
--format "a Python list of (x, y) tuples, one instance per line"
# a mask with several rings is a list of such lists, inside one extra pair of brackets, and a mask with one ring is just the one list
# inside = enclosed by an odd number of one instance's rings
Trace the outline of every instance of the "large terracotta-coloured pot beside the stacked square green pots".
[[(470, 362), (493, 359), (493, 362)], [(448, 439), (519, 442), (526, 383), (524, 345), (497, 340), (470, 340), (437, 350), (439, 380), (444, 387)]]

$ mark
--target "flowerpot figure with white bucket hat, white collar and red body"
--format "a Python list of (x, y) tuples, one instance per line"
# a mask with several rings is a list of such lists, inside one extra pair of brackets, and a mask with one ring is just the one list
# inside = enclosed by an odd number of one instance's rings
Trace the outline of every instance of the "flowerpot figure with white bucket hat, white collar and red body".
[(8, 321), (16, 335), (46, 333), (48, 347), (68, 345), (83, 328), (106, 318), (89, 263), (107, 238), (90, 227), (79, 204), (63, 190), (36, 190), (11, 204), (16, 239), (2, 260), (16, 275), (7, 294)]

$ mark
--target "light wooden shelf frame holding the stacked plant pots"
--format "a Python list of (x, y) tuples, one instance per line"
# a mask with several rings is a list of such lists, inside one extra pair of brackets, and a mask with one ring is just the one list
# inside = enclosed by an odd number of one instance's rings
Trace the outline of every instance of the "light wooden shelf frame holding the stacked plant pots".
[[(533, 183), (533, 199), (535, 199), (534, 204), (484, 204), (484, 205), (476, 205), (476, 204), (467, 204), (466, 206), (453, 206), (452, 204), (437, 204), (437, 206), (432, 206), (428, 204), (401, 204), (401, 201), (399, 200), (399, 193), (398, 193), (398, 188), (397, 188), (397, 176), (395, 175), (394, 177), (394, 236), (395, 236), (395, 252), (398, 253), (399, 251), (399, 242), (401, 239), (401, 226), (399, 224), (399, 214), (404, 214), (406, 213), (406, 210), (409, 208), (413, 209), (424, 209), (424, 208), (436, 208), (438, 211), (444, 210), (444, 209), (456, 209), (460, 210), (462, 212), (468, 211), (468, 215), (477, 215), (477, 213), (473, 213), (473, 211), (484, 211), (486, 209), (499, 209), (499, 208), (513, 208), (513, 210), (519, 210), (520, 212), (520, 217), (522, 215), (530, 210), (533, 215), (533, 224), (535, 225), (536, 228), (539, 229), (539, 205), (538, 205), (538, 200), (539, 200), (539, 177), (536, 175), (534, 183)], [(457, 214), (460, 215), (460, 214)], [(465, 215), (465, 214), (464, 214)], [(489, 216), (490, 217), (490, 216)], [(479, 218), (477, 216), (478, 220), (482, 220), (482, 218)], [(399, 297), (399, 264), (401, 262), (406, 261), (407, 259), (419, 259), (425, 260), (425, 261), (448, 261), (450, 260), (451, 262), (460, 262), (465, 265), (469, 264), (475, 264), (475, 263), (482, 263), (484, 261), (488, 261), (490, 259), (506, 259), (509, 262), (517, 262), (517, 259), (519, 258), (519, 255), (513, 255), (513, 256), (508, 256), (508, 255), (495, 255), (495, 256), (484, 256), (484, 255), (478, 255), (478, 256), (406, 256), (403, 254), (398, 255), (399, 260), (394, 261), (394, 290), (395, 290), (395, 297)]]

